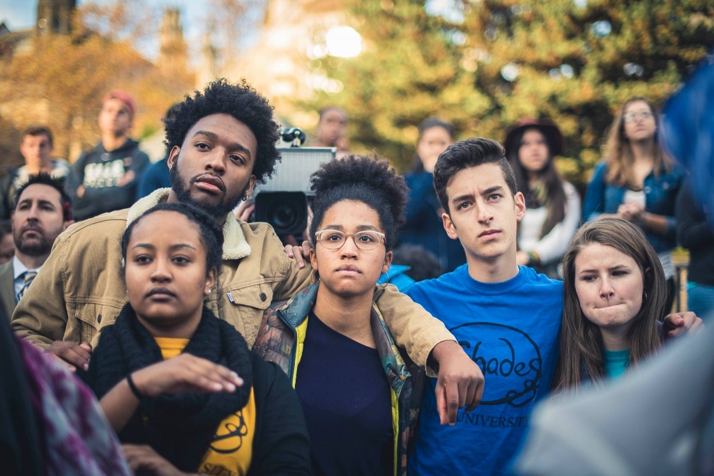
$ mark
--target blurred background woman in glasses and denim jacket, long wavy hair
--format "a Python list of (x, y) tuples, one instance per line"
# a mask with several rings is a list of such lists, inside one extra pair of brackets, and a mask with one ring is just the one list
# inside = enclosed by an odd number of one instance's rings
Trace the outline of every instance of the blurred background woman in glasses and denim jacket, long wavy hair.
[(640, 227), (668, 280), (668, 309), (675, 297), (671, 250), (677, 245), (675, 199), (685, 171), (663, 150), (660, 121), (645, 98), (630, 98), (610, 126), (605, 159), (595, 166), (583, 219), (623, 218)]

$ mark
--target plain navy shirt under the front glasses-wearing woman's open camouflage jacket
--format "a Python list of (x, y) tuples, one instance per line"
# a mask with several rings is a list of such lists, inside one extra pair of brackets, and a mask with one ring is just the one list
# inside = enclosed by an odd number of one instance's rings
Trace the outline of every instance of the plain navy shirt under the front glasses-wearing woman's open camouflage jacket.
[(314, 476), (392, 475), (391, 390), (376, 349), (308, 316), (295, 390)]

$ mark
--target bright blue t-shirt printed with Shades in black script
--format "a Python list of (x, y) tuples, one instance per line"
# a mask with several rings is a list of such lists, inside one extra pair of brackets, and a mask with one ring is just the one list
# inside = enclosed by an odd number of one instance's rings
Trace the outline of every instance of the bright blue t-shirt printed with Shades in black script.
[(430, 378), (409, 475), (505, 475), (538, 400), (548, 395), (558, 360), (563, 283), (518, 267), (503, 283), (481, 283), (468, 265), (412, 286), (408, 295), (443, 321), (481, 367), (481, 405), (456, 426), (441, 426)]

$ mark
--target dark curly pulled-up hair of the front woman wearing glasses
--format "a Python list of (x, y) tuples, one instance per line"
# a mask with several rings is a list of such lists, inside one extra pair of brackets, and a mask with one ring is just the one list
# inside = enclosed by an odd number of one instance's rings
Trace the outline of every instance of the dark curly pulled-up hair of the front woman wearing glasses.
[(387, 250), (396, 244), (399, 226), (404, 222), (408, 188), (402, 176), (378, 156), (349, 156), (331, 161), (311, 176), (311, 190), (315, 192), (310, 240), (322, 225), (328, 209), (343, 200), (364, 203), (377, 212), (385, 234)]

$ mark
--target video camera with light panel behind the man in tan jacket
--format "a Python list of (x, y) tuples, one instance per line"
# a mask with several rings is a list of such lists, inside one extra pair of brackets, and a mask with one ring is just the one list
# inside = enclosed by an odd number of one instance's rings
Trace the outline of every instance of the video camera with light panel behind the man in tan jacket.
[(323, 163), (335, 158), (333, 147), (301, 147), (305, 133), (298, 128), (281, 131), (288, 147), (278, 147), (281, 161), (276, 163), (273, 177), (253, 191), (255, 220), (270, 223), (278, 236), (300, 235), (308, 225), (310, 176)]

